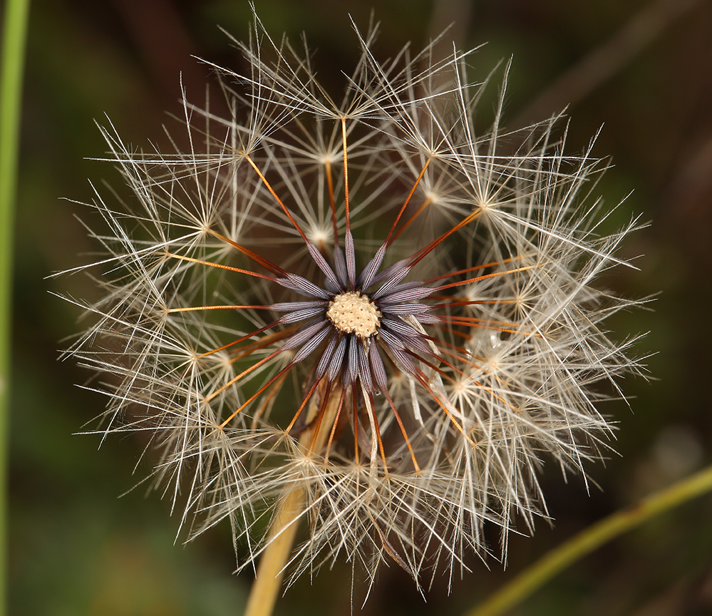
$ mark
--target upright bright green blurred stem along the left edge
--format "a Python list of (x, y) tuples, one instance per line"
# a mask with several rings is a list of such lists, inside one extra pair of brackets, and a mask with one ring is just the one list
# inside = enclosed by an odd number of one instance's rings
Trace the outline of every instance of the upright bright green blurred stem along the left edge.
[(2, 44), (0, 97), (0, 616), (6, 610), (7, 467), (9, 462), (9, 393), (11, 290), (14, 206), (19, 160), (22, 69), (29, 0), (8, 0)]

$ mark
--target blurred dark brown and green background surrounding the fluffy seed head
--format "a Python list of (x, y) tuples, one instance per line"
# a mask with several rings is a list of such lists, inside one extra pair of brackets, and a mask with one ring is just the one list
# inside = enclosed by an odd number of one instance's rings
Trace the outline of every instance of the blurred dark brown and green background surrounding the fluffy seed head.
[[(616, 449), (579, 478), (552, 468), (550, 527), (513, 537), (506, 570), (473, 558), (464, 580), (435, 578), (418, 595), (395, 567), (383, 568), (363, 607), (368, 615), (458, 615), (594, 520), (712, 462), (712, 3), (698, 0), (578, 3), (567, 0), (381, 0), (379, 56), (407, 41), (421, 48), (450, 22), (459, 46), (487, 42), (475, 56), (483, 75), (513, 56), (508, 125), (543, 119), (572, 103), (569, 153), (603, 125), (594, 155), (612, 155), (600, 185), (605, 200), (625, 201), (619, 220), (643, 212), (651, 226), (624, 246), (641, 272), (604, 281), (651, 307), (612, 322), (615, 335), (650, 332), (639, 344), (651, 377), (627, 379), (630, 409), (609, 404), (619, 422)], [(371, 3), (260, 0), (267, 29), (317, 49), (320, 78), (338, 81), (357, 56), (348, 14), (366, 29)], [(75, 384), (88, 374), (58, 361), (62, 339), (78, 331), (78, 310), (48, 291), (91, 299), (85, 277), (46, 279), (90, 257), (75, 216), (92, 198), (87, 178), (119, 192), (118, 173), (101, 157), (94, 120), (108, 116), (133, 145), (166, 146), (162, 124), (180, 113), (180, 75), (200, 103), (210, 69), (191, 55), (241, 66), (222, 26), (249, 34), (244, 0), (38, 0), (31, 6), (26, 66), (19, 211), (11, 466), (13, 615), (217, 616), (242, 612), (249, 573), (235, 578), (229, 528), (183, 546), (177, 516), (140, 486), (148, 466), (135, 461), (137, 438), (73, 436), (104, 400)], [(449, 44), (449, 43), (448, 43)], [(450, 51), (448, 44), (443, 54)], [(337, 83), (336, 91), (341, 85)], [(492, 95), (496, 95), (492, 88)], [(488, 104), (488, 103), (485, 103)], [(133, 474), (132, 474), (133, 473)], [(516, 614), (704, 615), (712, 613), (712, 498), (664, 515), (597, 550), (521, 605)], [(348, 615), (351, 575), (344, 563), (310, 582), (301, 578), (278, 615)], [(363, 588), (356, 580), (354, 612)]]

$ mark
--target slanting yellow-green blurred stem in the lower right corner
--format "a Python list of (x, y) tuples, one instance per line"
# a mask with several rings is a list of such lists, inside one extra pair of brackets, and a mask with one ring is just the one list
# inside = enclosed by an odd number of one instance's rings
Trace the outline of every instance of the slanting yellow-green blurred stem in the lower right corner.
[(554, 575), (607, 541), (641, 525), (659, 513), (709, 491), (712, 491), (712, 466), (644, 498), (636, 505), (612, 513), (607, 518), (590, 525), (537, 560), (483, 603), (467, 612), (465, 616), (496, 616), (506, 612)]

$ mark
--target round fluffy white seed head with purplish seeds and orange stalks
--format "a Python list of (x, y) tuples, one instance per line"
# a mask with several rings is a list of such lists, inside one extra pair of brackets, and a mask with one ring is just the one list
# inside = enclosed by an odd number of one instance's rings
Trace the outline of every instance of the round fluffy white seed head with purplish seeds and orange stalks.
[(133, 197), (96, 194), (105, 256), (78, 269), (104, 294), (70, 352), (190, 536), (228, 518), (240, 567), (296, 533), (292, 579), (343, 558), (420, 582), (505, 555), (542, 466), (607, 448), (597, 403), (638, 366), (602, 324), (634, 302), (597, 278), (634, 222), (600, 231), (604, 164), (555, 120), (507, 133), (500, 97), (480, 130), (472, 52), (381, 63), (356, 33), (341, 98), (256, 19), (249, 70), (219, 69), (229, 116), (185, 102), (167, 154), (104, 130)]

